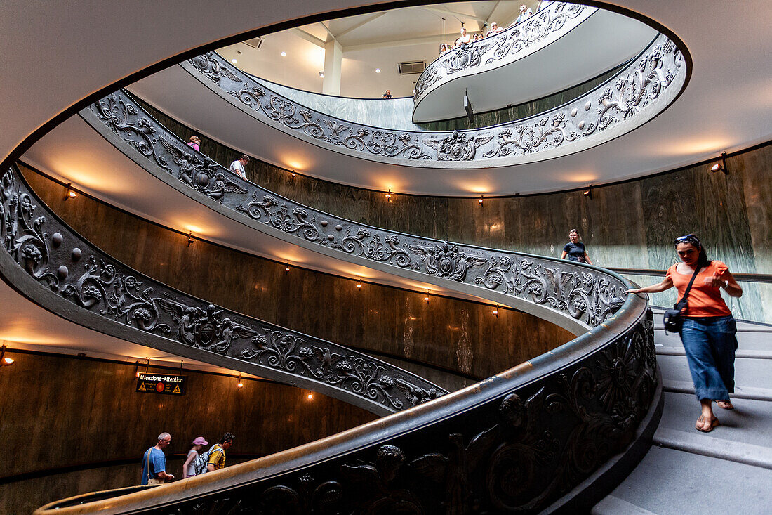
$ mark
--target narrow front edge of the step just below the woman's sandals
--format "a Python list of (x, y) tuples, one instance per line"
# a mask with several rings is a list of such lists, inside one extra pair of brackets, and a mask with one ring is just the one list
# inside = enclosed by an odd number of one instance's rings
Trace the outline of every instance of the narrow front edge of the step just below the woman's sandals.
[[(721, 420), (721, 419), (719, 419)], [(713, 429), (718, 431), (721, 426)], [(713, 433), (711, 433), (713, 434)], [(677, 451), (691, 452), (709, 458), (725, 459), (730, 462), (744, 463), (763, 469), (772, 469), (772, 448), (733, 442), (723, 438), (703, 435), (696, 430), (689, 433), (675, 429), (659, 428), (653, 442), (661, 447)]]

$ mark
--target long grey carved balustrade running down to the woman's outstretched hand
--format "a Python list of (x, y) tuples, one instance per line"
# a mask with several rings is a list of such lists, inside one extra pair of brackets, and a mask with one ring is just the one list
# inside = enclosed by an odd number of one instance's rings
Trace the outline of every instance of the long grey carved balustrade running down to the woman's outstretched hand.
[(337, 259), (511, 305), (574, 333), (624, 302), (598, 268), (370, 227), (277, 196), (193, 150), (118, 91), (81, 117), (158, 179), (256, 230)]

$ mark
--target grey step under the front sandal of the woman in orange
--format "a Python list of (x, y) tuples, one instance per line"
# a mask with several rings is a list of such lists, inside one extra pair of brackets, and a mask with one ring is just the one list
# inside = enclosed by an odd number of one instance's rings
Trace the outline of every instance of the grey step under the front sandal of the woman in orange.
[[(769, 401), (735, 399), (733, 410), (713, 409), (721, 425), (710, 432), (712, 438), (772, 448), (772, 404)], [(705, 436), (694, 429), (699, 417), (699, 402), (694, 394), (665, 392), (665, 410), (659, 421), (659, 430), (685, 431)]]

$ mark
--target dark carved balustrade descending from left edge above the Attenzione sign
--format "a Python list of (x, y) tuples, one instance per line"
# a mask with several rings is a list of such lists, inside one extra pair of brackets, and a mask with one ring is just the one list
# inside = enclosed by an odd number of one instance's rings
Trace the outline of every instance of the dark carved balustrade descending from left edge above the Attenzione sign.
[(3, 174), (0, 192), (0, 269), (18, 279), (15, 288), (73, 322), (377, 414), (447, 393), (364, 353), (219, 308), (128, 268), (47, 210), (15, 169)]

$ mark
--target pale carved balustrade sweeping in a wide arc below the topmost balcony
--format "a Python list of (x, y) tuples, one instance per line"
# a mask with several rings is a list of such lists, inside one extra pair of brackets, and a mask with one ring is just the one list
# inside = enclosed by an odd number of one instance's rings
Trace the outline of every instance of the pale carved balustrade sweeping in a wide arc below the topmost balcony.
[(371, 161), (455, 169), (553, 159), (608, 142), (665, 110), (688, 75), (678, 46), (661, 34), (615, 77), (560, 107), (489, 128), (427, 132), (372, 127), (314, 111), (214, 52), (180, 66), (239, 110), (304, 142)]

